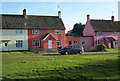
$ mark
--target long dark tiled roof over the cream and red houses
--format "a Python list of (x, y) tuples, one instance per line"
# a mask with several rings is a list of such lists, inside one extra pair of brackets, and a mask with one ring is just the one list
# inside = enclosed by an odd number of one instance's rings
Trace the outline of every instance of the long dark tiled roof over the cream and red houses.
[(58, 16), (2, 14), (2, 29), (65, 29)]

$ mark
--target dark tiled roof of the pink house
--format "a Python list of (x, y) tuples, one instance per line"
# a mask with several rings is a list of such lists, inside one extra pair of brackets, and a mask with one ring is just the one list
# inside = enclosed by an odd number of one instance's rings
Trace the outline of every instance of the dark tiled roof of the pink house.
[(112, 20), (90, 20), (95, 31), (120, 31), (120, 25)]

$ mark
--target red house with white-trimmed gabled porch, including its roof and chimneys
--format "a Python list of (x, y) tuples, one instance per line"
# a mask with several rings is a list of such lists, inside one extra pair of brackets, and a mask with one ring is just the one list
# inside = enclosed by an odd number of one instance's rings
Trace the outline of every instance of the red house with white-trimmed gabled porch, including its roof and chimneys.
[(26, 27), (28, 28), (28, 48), (58, 48), (65, 47), (65, 27), (61, 19), (61, 12), (58, 16), (36, 16), (26, 15)]

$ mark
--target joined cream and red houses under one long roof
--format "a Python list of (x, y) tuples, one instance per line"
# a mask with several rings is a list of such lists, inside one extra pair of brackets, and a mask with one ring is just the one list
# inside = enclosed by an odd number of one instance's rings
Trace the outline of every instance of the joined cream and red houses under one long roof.
[(65, 27), (58, 16), (2, 14), (2, 51), (65, 46)]

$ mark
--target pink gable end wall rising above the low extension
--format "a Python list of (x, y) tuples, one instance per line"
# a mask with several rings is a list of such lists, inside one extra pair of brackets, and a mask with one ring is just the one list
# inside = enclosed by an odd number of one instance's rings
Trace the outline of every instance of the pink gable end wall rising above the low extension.
[(83, 36), (95, 36), (94, 29), (89, 22), (87, 22), (85, 25)]

